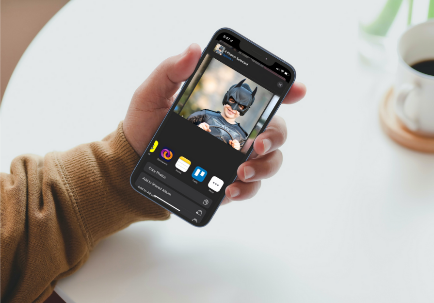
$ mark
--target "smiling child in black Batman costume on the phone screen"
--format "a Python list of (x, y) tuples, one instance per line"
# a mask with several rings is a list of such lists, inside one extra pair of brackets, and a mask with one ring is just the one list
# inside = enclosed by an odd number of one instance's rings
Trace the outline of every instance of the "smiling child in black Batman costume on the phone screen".
[(257, 92), (257, 87), (252, 91), (249, 84), (244, 83), (245, 80), (232, 85), (226, 92), (225, 97), (223, 97), (223, 113), (204, 109), (187, 118), (211, 135), (230, 144), (236, 150), (243, 147), (248, 134), (240, 123), (235, 122), (235, 119), (247, 113), (255, 101)]

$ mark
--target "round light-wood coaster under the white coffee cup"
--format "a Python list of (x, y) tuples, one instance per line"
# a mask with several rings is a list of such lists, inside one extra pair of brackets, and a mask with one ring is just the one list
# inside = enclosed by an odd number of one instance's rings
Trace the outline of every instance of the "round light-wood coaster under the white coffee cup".
[(381, 100), (380, 122), (383, 130), (395, 142), (409, 149), (434, 153), (434, 138), (423, 137), (411, 132), (396, 117), (393, 97), (393, 87), (390, 87)]

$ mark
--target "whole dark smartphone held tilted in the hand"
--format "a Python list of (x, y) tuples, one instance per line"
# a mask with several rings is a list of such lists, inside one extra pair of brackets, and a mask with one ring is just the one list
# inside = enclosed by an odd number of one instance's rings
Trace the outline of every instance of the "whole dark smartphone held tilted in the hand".
[(131, 174), (131, 186), (190, 224), (209, 223), (279, 108), (295, 70), (218, 30)]

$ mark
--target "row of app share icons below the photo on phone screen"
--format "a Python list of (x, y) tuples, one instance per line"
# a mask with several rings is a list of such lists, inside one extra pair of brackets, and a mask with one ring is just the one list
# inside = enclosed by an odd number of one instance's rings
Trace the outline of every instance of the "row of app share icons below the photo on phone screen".
[[(152, 145), (152, 148), (149, 150), (149, 152), (155, 152), (157, 146), (158, 146), (158, 141), (156, 140)], [(173, 154), (174, 153), (171, 149), (164, 147), (160, 152), (160, 158), (166, 162), (170, 162), (173, 158)], [(175, 164), (175, 167), (182, 172), (186, 172), (190, 168), (191, 164), (192, 162), (189, 159), (185, 157), (179, 157), (177, 163)], [(192, 177), (199, 182), (203, 182), (207, 174), (208, 172), (205, 169), (196, 166), (196, 168), (194, 168), (193, 170)], [(208, 183), (208, 187), (214, 190), (215, 192), (218, 192), (222, 188), (223, 183), (224, 183), (223, 180), (213, 176)]]

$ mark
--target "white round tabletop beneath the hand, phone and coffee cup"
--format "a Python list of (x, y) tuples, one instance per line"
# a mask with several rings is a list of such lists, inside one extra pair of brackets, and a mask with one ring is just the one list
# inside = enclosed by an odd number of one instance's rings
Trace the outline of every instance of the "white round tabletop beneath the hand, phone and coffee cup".
[(352, 2), (73, 0), (53, 17), (4, 95), (1, 171), (18, 154), (112, 132), (154, 67), (223, 26), (285, 58), (308, 87), (279, 110), (284, 164), (254, 199), (222, 207), (202, 229), (177, 218), (131, 225), (58, 283), (64, 298), (434, 301), (434, 156), (381, 131), (393, 74), (358, 63)]

